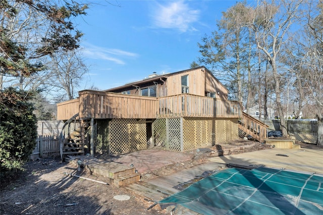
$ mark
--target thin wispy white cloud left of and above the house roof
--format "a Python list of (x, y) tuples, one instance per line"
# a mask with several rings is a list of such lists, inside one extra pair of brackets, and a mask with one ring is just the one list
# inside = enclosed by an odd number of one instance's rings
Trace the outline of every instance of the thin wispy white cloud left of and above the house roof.
[(83, 47), (83, 55), (92, 59), (113, 61), (117, 64), (125, 64), (124, 57), (137, 57), (138, 54), (120, 49), (103, 48), (91, 44)]

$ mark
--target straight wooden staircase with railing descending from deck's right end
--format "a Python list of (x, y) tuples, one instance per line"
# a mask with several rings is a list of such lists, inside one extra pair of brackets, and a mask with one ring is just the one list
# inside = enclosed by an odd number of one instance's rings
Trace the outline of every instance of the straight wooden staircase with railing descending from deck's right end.
[(239, 129), (245, 132), (245, 136), (250, 135), (259, 142), (264, 142), (267, 138), (268, 127), (265, 123), (242, 112), (242, 118), (239, 120)]

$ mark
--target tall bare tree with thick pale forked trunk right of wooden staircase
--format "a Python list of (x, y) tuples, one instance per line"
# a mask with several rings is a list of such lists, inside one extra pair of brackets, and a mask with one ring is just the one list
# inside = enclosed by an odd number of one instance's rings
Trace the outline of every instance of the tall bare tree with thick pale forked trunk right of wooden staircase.
[(259, 1), (252, 23), (257, 47), (266, 55), (272, 67), (275, 95), (283, 136), (287, 136), (281, 93), (283, 77), (279, 69), (279, 57), (283, 46), (291, 37), (288, 32), (297, 21), (297, 12), (302, 1)]

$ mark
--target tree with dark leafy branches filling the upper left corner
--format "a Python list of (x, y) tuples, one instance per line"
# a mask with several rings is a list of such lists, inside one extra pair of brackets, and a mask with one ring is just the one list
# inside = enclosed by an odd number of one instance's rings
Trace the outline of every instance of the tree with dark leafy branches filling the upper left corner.
[(46, 56), (79, 47), (82, 34), (71, 18), (85, 15), (87, 5), (66, 0), (2, 0), (0, 6), (0, 90), (4, 84), (25, 89), (26, 77), (45, 69)]

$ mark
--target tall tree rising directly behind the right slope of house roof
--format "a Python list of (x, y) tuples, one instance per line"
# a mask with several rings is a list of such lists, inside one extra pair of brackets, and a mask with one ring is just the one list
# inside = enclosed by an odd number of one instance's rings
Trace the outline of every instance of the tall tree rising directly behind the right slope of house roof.
[(246, 3), (237, 3), (223, 12), (223, 17), (217, 24), (219, 31), (205, 36), (202, 43), (198, 43), (202, 55), (199, 62), (210, 66), (214, 75), (235, 92), (235, 97), (240, 102), (243, 102), (244, 76), (248, 73), (248, 78), (251, 79), (253, 66), (251, 56), (254, 46), (251, 45), (252, 37), (246, 25), (252, 17), (251, 12), (253, 10)]

